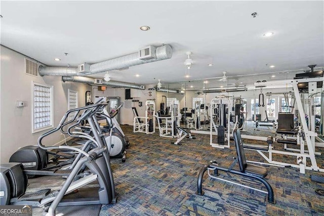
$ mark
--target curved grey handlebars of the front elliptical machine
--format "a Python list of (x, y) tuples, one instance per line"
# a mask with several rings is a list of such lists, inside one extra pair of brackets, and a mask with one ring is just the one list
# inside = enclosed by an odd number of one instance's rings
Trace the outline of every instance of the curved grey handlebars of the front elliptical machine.
[[(100, 100), (99, 100), (99, 101), (100, 101)], [(97, 101), (97, 102), (99, 102), (99, 101)], [(109, 102), (109, 101), (108, 101), (108, 102)], [(46, 133), (44, 133), (44, 134), (42, 134), (41, 136), (38, 137), (38, 139), (37, 139), (37, 145), (39, 146), (39, 148), (44, 149), (44, 150), (64, 149), (65, 146), (59, 146), (59, 147), (46, 147), (46, 146), (44, 146), (44, 145), (42, 144), (42, 139), (43, 139), (44, 137), (46, 137), (46, 136), (52, 134), (52, 133), (55, 133), (56, 131), (58, 131), (58, 130), (60, 130), (60, 129), (61, 129), (61, 131), (62, 131), (62, 127), (63, 127), (63, 126), (67, 125), (68, 123), (71, 123), (71, 122), (75, 121), (76, 116), (77, 116), (77, 114), (78, 114), (80, 111), (85, 110), (84, 113), (83, 113), (83, 114), (78, 118), (77, 123), (80, 123), (82, 120), (86, 120), (86, 119), (92, 117), (93, 115), (96, 114), (96, 112), (97, 112), (98, 110), (102, 109), (102, 108), (105, 107), (106, 105), (108, 105), (107, 102), (94, 103), (94, 104), (90, 104), (90, 105), (87, 105), (87, 106), (78, 107), (78, 108), (75, 108), (75, 109), (68, 110), (68, 111), (64, 114), (63, 118), (61, 119), (60, 123), (58, 124), (58, 126), (57, 126), (56, 128), (54, 128), (53, 130), (50, 130), (50, 131), (48, 131), (48, 132), (46, 132)], [(69, 115), (70, 113), (72, 113), (72, 112), (76, 112), (76, 114), (74, 114), (73, 120), (64, 123), (64, 122), (66, 121), (68, 115)], [(62, 131), (62, 132), (63, 132), (63, 131)], [(68, 132), (65, 132), (65, 133), (68, 133)], [(70, 150), (71, 150), (71, 148), (72, 148), (72, 150), (74, 150), (74, 151), (77, 151), (77, 152), (82, 153), (82, 154), (84, 154), (84, 155), (88, 155), (86, 152), (84, 152), (84, 151), (82, 151), (82, 150), (80, 150), (80, 149), (78, 149), (78, 148), (68, 147), (68, 148), (66, 148), (66, 149), (70, 149)]]

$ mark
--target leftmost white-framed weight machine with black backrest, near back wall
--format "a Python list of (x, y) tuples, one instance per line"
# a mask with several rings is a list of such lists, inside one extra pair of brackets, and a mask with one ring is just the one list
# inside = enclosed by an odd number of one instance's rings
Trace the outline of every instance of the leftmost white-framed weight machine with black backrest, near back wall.
[[(133, 131), (142, 132), (146, 134), (152, 134), (155, 132), (155, 121), (154, 121), (154, 114), (155, 114), (155, 102), (153, 100), (146, 100), (145, 102), (145, 117), (139, 117), (136, 107), (132, 107), (134, 113), (134, 120), (133, 120)], [(143, 120), (141, 120), (144, 119)]]

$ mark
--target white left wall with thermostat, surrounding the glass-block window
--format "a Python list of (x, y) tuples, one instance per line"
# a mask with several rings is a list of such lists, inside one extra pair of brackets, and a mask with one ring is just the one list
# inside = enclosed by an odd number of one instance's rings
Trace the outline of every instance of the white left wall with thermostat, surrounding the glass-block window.
[[(9, 161), (10, 156), (18, 148), (37, 145), (37, 138), (47, 131), (32, 134), (32, 82), (54, 86), (54, 127), (56, 127), (68, 109), (68, 89), (78, 92), (78, 106), (83, 106), (85, 92), (89, 85), (61, 81), (61, 77), (33, 77), (25, 74), (25, 57), (17, 52), (1, 46), (1, 132), (0, 160)], [(16, 107), (16, 101), (26, 101), (25, 107)], [(64, 136), (60, 132), (44, 139), (46, 146), (62, 142)]]

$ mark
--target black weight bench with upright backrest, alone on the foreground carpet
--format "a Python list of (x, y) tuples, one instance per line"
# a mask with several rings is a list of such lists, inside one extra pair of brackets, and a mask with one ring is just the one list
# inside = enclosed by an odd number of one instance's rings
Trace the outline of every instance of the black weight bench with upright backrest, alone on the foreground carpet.
[[(197, 179), (196, 194), (204, 195), (204, 192), (202, 189), (203, 176), (204, 176), (205, 171), (208, 170), (208, 175), (211, 176), (212, 178), (215, 178), (220, 181), (227, 182), (227, 183), (232, 183), (235, 185), (240, 185), (240, 186), (252, 189), (252, 190), (256, 190), (256, 191), (268, 194), (267, 201), (275, 204), (272, 187), (265, 179), (265, 177), (268, 174), (267, 168), (247, 163), (246, 157), (244, 154), (244, 147), (243, 147), (240, 131), (237, 129), (234, 129), (233, 136), (234, 136), (237, 159), (232, 163), (232, 165), (229, 168), (224, 168), (224, 167), (218, 166), (216, 161), (208, 162), (202, 169), (200, 169), (198, 179)], [(235, 166), (235, 164), (237, 162), (239, 165), (239, 170), (233, 169), (233, 167)], [(211, 174), (211, 170), (214, 171), (214, 174)], [(255, 179), (256, 181), (261, 182), (266, 187), (267, 191), (262, 191), (262, 190), (259, 190), (259, 189), (256, 189), (256, 188), (253, 188), (250, 186), (242, 185), (242, 184), (239, 184), (236, 182), (228, 181), (227, 179), (220, 178), (220, 177), (218, 177), (219, 170), (227, 172), (227, 173), (241, 175), (244, 177), (249, 177), (249, 178)]]

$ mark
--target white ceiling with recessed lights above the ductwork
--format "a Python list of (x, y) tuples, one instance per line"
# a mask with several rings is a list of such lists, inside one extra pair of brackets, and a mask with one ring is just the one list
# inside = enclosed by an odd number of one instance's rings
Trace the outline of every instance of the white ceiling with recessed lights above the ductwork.
[[(114, 81), (138, 84), (157, 83), (157, 79), (172, 83), (215, 78), (221, 77), (223, 70), (228, 76), (263, 74), (310, 64), (324, 66), (323, 4), (1, 1), (1, 44), (51, 66), (96, 63), (135, 53), (147, 45), (171, 45), (171, 59), (109, 72)], [(253, 12), (258, 13), (256, 18), (251, 16)], [(142, 25), (151, 29), (141, 31)], [(266, 38), (263, 34), (268, 31), (275, 34)], [(192, 52), (194, 61), (190, 78), (184, 77), (187, 51)], [(207, 66), (209, 63), (214, 65)], [(272, 64), (275, 67), (269, 68)]]

